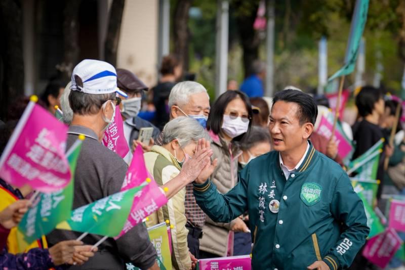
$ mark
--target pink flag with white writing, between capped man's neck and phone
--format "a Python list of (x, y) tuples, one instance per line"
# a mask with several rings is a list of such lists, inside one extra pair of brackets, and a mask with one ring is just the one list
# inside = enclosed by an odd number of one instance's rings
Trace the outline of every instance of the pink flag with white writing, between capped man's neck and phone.
[(123, 117), (121, 117), (118, 105), (115, 107), (114, 119), (104, 132), (103, 145), (117, 153), (121, 158), (124, 158), (130, 151), (124, 137)]

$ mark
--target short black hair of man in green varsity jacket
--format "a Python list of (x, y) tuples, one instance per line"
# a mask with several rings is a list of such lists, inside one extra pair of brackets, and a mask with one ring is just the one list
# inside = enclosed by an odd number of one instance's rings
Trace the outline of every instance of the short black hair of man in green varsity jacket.
[(294, 102), (298, 104), (297, 117), (300, 125), (305, 123), (315, 124), (318, 115), (318, 107), (315, 100), (301, 91), (295, 89), (286, 89), (275, 94), (273, 98), (273, 107), (277, 101)]

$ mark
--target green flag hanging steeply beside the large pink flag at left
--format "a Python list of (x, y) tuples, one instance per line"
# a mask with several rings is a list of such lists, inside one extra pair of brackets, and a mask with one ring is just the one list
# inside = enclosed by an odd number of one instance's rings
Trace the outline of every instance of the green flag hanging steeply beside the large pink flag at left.
[(19, 223), (18, 230), (27, 243), (32, 243), (42, 235), (49, 234), (59, 222), (69, 218), (73, 203), (74, 171), (83, 140), (83, 137), (77, 139), (66, 152), (72, 175), (70, 183), (60, 191), (42, 193)]

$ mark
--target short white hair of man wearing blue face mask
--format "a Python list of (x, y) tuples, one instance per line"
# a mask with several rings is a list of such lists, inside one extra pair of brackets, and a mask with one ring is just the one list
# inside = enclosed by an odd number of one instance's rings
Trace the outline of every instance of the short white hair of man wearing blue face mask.
[[(169, 108), (173, 105), (183, 106), (188, 103), (188, 99), (193, 94), (207, 93), (206, 87), (195, 81), (182, 81), (173, 86), (169, 96)], [(207, 93), (208, 96), (208, 93)], [(210, 97), (208, 96), (208, 99)]]

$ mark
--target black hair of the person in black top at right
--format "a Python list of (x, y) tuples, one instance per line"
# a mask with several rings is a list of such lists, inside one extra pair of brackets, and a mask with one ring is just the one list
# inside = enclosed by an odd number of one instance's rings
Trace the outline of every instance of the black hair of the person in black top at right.
[(383, 98), (380, 89), (373, 86), (363, 86), (356, 96), (356, 106), (358, 114), (366, 117), (373, 113), (375, 104)]

